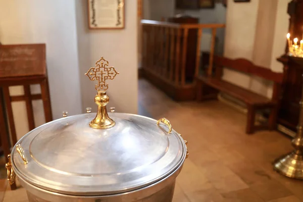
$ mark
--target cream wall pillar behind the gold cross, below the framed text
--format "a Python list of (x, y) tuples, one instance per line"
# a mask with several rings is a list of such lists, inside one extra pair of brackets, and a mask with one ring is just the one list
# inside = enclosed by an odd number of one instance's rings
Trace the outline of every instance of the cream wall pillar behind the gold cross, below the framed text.
[(137, 113), (137, 1), (128, 1), (125, 6), (125, 29), (89, 30), (87, 1), (77, 0), (78, 59), (83, 109), (91, 107), (92, 111), (96, 111), (93, 101), (95, 83), (84, 76), (84, 73), (104, 56), (109, 65), (120, 72), (113, 81), (108, 82), (108, 107), (116, 107), (117, 112)]

